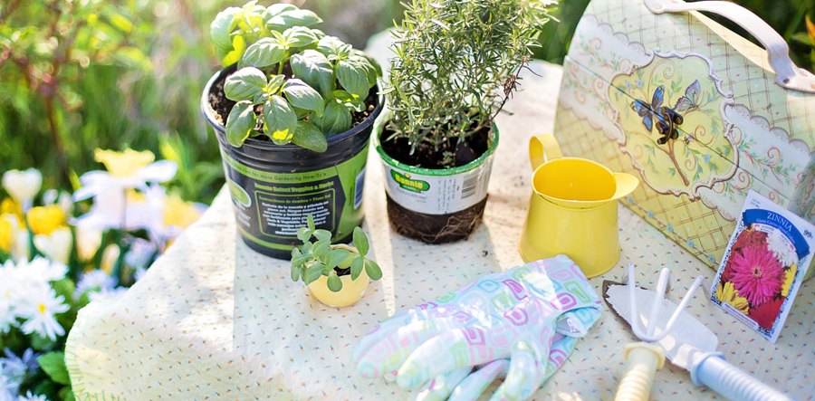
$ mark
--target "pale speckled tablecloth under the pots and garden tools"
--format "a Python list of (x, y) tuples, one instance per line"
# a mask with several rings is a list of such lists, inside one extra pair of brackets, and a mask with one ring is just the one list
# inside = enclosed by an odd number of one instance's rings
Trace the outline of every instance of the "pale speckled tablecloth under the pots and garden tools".
[[(381, 46), (380, 46), (381, 47)], [(374, 53), (384, 54), (379, 50)], [(489, 186), (484, 224), (468, 241), (425, 245), (393, 233), (385, 212), (382, 168), (369, 153), (364, 229), (384, 271), (349, 308), (315, 301), (289, 264), (254, 253), (237, 239), (228, 193), (172, 246), (119, 301), (91, 303), (72, 329), (66, 350), (79, 399), (410, 399), (381, 379), (360, 377), (350, 364), (360, 336), (395, 311), (455, 291), (477, 277), (522, 264), (518, 237), (530, 194), (527, 142), (550, 132), (561, 67), (535, 62), (497, 126), (500, 146)], [(666, 240), (628, 209), (619, 209), (622, 255), (638, 282), (653, 288), (656, 273), (674, 273), (676, 300), (709, 268)], [(586, 250), (591, 252), (590, 249)], [(618, 280), (621, 267), (593, 279)], [(705, 301), (690, 310), (719, 335), (734, 365), (794, 396), (815, 393), (815, 284), (804, 283), (781, 338), (772, 344)], [(608, 399), (623, 371), (623, 347), (632, 341), (608, 310), (568, 362), (534, 398)], [(655, 399), (721, 399), (695, 387), (686, 371), (666, 364), (657, 372)]]

